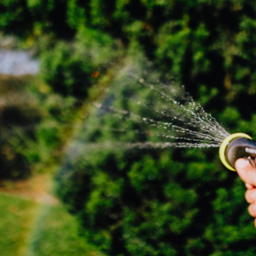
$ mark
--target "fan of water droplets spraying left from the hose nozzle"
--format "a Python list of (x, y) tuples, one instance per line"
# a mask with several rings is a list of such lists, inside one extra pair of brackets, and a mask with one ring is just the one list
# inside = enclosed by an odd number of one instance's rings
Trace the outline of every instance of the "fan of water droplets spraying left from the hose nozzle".
[[(105, 141), (98, 147), (123, 146), (126, 149), (219, 147), (223, 139), (229, 135), (215, 118), (185, 92), (184, 86), (164, 84), (160, 81), (148, 83), (140, 78), (137, 87), (138, 91), (144, 91), (151, 100), (140, 98), (135, 90), (134, 94), (126, 97), (129, 102), (128, 110), (121, 109), (115, 104), (106, 105), (104, 102), (97, 102), (95, 106), (103, 115), (111, 114), (113, 118), (120, 120), (120, 127), (112, 127), (114, 133), (122, 135), (129, 133), (131, 131), (129, 124), (136, 123), (135, 126), (139, 126), (140, 129), (133, 128), (133, 133), (144, 135), (147, 140)], [(97, 144), (93, 147), (96, 148)]]

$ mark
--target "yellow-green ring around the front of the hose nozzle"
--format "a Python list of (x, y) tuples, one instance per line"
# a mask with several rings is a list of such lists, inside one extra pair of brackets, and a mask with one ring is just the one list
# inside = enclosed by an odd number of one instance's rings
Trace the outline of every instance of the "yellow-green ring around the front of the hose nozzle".
[(234, 134), (231, 134), (229, 136), (227, 136), (221, 143), (221, 146), (220, 146), (220, 150), (219, 150), (219, 156), (220, 156), (220, 159), (221, 159), (221, 162), (224, 164), (224, 166), (226, 166), (229, 170), (233, 170), (234, 172), (236, 172), (236, 169), (233, 168), (233, 166), (230, 165), (229, 161), (227, 160), (226, 158), (226, 149), (227, 149), (227, 146), (228, 144), (233, 140), (233, 139), (236, 139), (236, 138), (247, 138), (247, 139), (252, 139), (249, 135), (245, 134), (245, 133), (234, 133)]

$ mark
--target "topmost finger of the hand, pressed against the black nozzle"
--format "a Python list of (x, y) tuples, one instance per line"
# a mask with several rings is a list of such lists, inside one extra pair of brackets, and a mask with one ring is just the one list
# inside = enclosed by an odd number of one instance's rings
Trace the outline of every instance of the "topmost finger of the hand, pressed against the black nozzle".
[(240, 178), (253, 186), (256, 186), (256, 168), (248, 160), (240, 158), (235, 163)]

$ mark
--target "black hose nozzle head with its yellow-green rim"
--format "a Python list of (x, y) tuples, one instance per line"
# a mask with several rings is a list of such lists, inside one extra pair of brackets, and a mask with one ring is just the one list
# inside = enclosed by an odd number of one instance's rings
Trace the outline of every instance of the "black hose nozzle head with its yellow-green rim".
[(234, 163), (239, 158), (248, 159), (256, 167), (256, 141), (245, 133), (235, 133), (226, 137), (221, 143), (219, 156), (221, 162), (230, 170), (236, 171)]

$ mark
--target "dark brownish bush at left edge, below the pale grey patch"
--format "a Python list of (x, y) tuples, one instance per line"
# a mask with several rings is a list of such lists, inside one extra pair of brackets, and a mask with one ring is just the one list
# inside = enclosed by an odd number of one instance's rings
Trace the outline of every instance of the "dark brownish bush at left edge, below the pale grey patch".
[(28, 91), (29, 77), (0, 77), (1, 92), (1, 172), (2, 178), (24, 178), (31, 169), (25, 151), (35, 139), (41, 109)]

